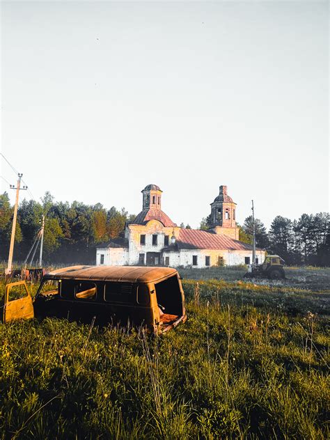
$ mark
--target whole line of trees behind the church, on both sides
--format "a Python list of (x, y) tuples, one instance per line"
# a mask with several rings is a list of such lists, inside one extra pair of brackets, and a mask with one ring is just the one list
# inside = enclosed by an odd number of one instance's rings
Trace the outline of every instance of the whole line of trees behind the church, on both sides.
[[(109, 210), (100, 203), (56, 202), (47, 192), (40, 203), (24, 199), (17, 212), (14, 260), (24, 261), (45, 215), (44, 259), (52, 263), (95, 263), (95, 246), (123, 233), (125, 223), (135, 218), (125, 208)], [(13, 222), (8, 194), (0, 195), (0, 258), (7, 260)], [(327, 212), (302, 214), (298, 220), (277, 216), (267, 231), (256, 219), (256, 245), (276, 253), (287, 265), (330, 266), (330, 216)], [(210, 216), (201, 229), (210, 226)], [(190, 228), (189, 225), (181, 227)], [(252, 243), (253, 221), (247, 217), (239, 226), (239, 239)], [(35, 258), (36, 261), (36, 258)]]

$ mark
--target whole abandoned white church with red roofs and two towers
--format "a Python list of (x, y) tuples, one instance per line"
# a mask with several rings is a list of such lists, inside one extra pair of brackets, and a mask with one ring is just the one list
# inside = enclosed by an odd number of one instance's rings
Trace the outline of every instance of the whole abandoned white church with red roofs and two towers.
[[(142, 210), (127, 223), (122, 237), (100, 244), (97, 265), (210, 267), (242, 265), (252, 261), (252, 246), (239, 241), (236, 203), (221, 185), (211, 203), (208, 230), (184, 229), (162, 211), (162, 190), (149, 184), (142, 191)], [(259, 261), (265, 251), (257, 249)]]

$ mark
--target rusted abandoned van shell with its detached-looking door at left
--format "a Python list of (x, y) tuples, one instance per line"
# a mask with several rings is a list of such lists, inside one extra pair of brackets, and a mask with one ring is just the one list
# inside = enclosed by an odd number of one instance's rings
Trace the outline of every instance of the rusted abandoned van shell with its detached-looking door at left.
[(6, 286), (3, 322), (63, 317), (95, 324), (146, 326), (163, 333), (187, 319), (178, 272), (171, 267), (73, 266), (42, 277), (35, 299), (25, 281)]

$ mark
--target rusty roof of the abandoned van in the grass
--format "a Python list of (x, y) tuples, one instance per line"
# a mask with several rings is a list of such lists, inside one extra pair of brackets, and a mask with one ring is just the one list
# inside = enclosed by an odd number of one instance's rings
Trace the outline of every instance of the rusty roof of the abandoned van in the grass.
[(53, 270), (45, 279), (79, 279), (95, 281), (126, 281), (151, 283), (177, 273), (173, 267), (148, 266), (70, 266)]

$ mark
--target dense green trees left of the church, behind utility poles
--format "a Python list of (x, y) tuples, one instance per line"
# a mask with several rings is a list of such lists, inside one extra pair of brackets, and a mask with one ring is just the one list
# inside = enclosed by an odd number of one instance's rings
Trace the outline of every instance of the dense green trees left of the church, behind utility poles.
[[(125, 222), (135, 217), (134, 214), (129, 215), (125, 208), (117, 210), (111, 207), (107, 210), (101, 203), (55, 202), (49, 192), (42, 197), (41, 203), (24, 199), (17, 212), (15, 261), (26, 259), (40, 230), (42, 215), (45, 215), (43, 259), (63, 264), (95, 264), (95, 246), (119, 237)], [(8, 258), (12, 223), (13, 206), (5, 192), (0, 195), (1, 260)]]

